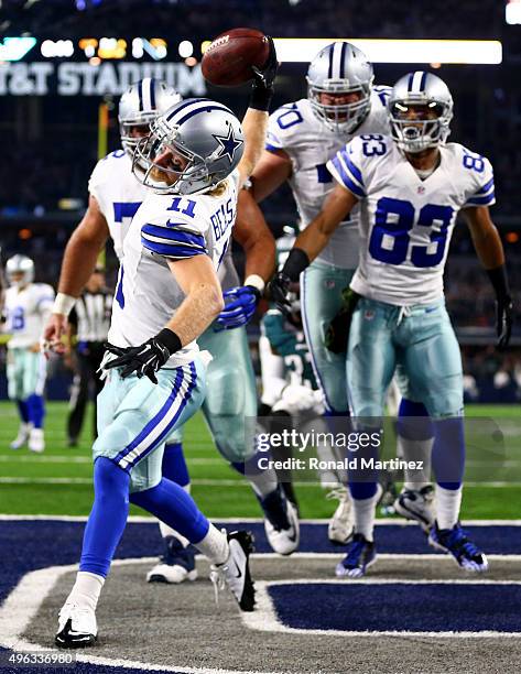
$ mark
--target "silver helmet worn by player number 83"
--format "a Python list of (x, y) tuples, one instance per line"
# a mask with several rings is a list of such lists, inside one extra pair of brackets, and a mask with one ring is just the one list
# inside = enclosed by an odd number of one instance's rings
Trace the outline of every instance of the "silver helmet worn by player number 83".
[[(434, 111), (435, 118), (431, 112), (431, 119), (411, 119), (408, 117), (410, 108)], [(415, 70), (401, 77), (392, 88), (388, 109), (392, 138), (404, 152), (415, 154), (447, 141), (453, 97), (437, 75)]]

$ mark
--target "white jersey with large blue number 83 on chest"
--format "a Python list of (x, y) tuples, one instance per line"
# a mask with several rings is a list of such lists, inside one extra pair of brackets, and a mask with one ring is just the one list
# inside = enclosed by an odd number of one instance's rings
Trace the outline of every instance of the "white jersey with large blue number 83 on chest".
[(421, 180), (390, 137), (358, 137), (327, 164), (360, 198), (360, 263), (351, 287), (398, 306), (443, 296), (443, 272), (458, 210), (495, 203), (490, 162), (458, 143)]

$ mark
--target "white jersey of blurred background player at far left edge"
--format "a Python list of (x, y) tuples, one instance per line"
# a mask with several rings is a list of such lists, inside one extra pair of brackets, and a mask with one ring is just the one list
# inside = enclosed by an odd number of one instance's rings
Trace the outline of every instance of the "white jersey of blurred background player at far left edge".
[(6, 331), (12, 335), (8, 349), (28, 348), (37, 344), (44, 323), (53, 308), (54, 290), (46, 283), (30, 283), (23, 290), (6, 291)]

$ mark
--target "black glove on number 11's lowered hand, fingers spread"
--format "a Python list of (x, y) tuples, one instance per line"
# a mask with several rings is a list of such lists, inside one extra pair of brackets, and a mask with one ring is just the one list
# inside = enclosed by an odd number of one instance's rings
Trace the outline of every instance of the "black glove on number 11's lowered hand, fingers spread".
[(121, 348), (109, 343), (104, 346), (118, 356), (105, 366), (106, 370), (121, 368), (120, 374), (123, 379), (135, 372), (140, 379), (145, 376), (152, 383), (158, 383), (155, 372), (182, 347), (181, 339), (169, 328), (162, 329), (155, 337), (137, 347)]

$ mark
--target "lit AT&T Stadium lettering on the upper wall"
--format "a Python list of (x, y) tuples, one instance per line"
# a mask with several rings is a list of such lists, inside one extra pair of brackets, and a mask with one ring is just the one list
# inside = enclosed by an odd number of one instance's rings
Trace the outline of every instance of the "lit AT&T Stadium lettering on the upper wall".
[(206, 94), (200, 66), (184, 63), (50, 62), (0, 65), (0, 96), (107, 96), (121, 95), (132, 83), (156, 77), (182, 96)]

